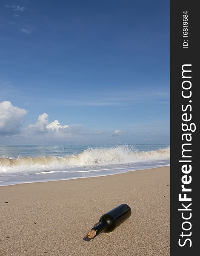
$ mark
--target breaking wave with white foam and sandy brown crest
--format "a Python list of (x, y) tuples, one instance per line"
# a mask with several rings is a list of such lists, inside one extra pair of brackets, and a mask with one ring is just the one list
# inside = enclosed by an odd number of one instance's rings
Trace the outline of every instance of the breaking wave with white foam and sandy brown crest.
[(66, 157), (18, 157), (0, 158), (0, 172), (29, 172), (80, 166), (139, 163), (170, 159), (170, 146), (155, 151), (137, 151), (130, 146), (115, 148), (89, 148), (80, 154)]

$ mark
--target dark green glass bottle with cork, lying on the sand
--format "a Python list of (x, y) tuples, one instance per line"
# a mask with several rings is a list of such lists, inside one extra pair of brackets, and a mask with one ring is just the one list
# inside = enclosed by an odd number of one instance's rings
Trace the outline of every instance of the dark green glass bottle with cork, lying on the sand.
[(93, 238), (102, 232), (111, 232), (131, 215), (131, 208), (127, 204), (120, 204), (116, 208), (102, 215), (98, 224), (90, 232), (88, 238)]

